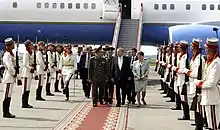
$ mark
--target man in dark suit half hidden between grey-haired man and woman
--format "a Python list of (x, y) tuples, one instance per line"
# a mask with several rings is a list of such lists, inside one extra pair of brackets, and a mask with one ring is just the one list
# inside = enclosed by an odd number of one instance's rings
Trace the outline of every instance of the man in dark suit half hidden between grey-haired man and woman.
[(132, 104), (135, 104), (135, 102), (136, 102), (136, 100), (135, 100), (136, 92), (135, 92), (135, 85), (134, 85), (134, 75), (132, 73), (133, 63), (134, 63), (134, 61), (138, 60), (136, 54), (137, 54), (137, 49), (132, 48), (131, 56), (129, 57), (131, 80), (128, 81), (128, 98), (131, 97), (131, 99), (128, 99), (128, 100), (132, 101)]

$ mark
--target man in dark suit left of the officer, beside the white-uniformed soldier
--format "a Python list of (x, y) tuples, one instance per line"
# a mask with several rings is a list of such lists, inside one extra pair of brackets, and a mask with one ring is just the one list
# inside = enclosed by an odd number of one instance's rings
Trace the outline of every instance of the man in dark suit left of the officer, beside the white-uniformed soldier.
[(91, 83), (88, 80), (88, 62), (91, 58), (91, 52), (90, 47), (85, 48), (79, 60), (80, 78), (82, 79), (83, 91), (87, 98), (90, 98), (91, 90)]

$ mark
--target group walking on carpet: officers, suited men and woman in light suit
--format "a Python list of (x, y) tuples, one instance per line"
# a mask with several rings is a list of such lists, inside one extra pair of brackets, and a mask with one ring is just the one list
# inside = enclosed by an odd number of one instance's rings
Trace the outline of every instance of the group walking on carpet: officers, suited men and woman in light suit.
[(146, 105), (149, 66), (144, 60), (144, 53), (137, 53), (136, 48), (133, 48), (133, 55), (128, 57), (124, 56), (123, 48), (118, 48), (116, 56), (113, 57), (113, 50), (114, 48), (102, 49), (100, 46), (95, 57), (90, 59), (88, 79), (92, 83), (93, 106), (97, 106), (97, 101), (103, 104), (103, 99), (105, 104), (112, 104), (114, 85), (116, 85), (116, 107), (125, 105), (126, 97), (129, 104), (135, 104), (136, 95), (140, 107), (140, 92), (141, 100)]

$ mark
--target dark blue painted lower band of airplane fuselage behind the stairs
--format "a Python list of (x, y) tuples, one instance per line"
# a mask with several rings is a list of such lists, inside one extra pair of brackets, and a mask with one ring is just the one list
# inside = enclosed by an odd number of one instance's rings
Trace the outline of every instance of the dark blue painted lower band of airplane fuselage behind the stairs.
[[(86, 43), (111, 43), (114, 33), (112, 23), (103, 24), (45, 24), (45, 23), (0, 23), (0, 41), (6, 37), (15, 40), (19, 35), (20, 41), (31, 39), (35, 41), (46, 40), (49, 42)], [(40, 31), (39, 31), (40, 30)], [(168, 39), (168, 26), (144, 25), (142, 41), (161, 43)]]

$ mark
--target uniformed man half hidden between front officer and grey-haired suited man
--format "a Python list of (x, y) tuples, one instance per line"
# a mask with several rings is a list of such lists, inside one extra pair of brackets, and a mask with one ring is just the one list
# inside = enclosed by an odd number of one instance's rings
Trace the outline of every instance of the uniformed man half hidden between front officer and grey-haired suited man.
[(107, 69), (108, 69), (108, 79), (105, 88), (105, 103), (112, 104), (113, 103), (113, 93), (114, 93), (114, 80), (112, 77), (112, 61), (113, 61), (113, 51), (115, 49), (113, 47), (106, 48), (107, 51)]

